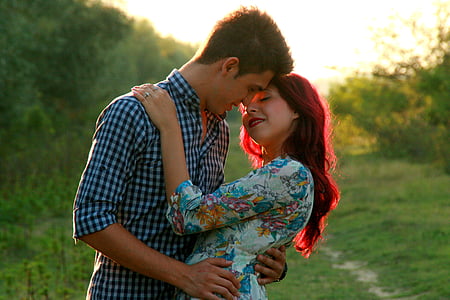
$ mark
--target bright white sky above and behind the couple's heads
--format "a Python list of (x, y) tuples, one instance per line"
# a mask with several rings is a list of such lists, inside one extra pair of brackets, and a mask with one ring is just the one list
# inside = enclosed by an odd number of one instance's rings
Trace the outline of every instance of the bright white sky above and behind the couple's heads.
[[(268, 12), (283, 32), (295, 60), (294, 71), (310, 80), (339, 77), (342, 70), (376, 60), (371, 27), (389, 16), (431, 19), (432, 0), (119, 0), (128, 13), (148, 18), (163, 36), (200, 43), (215, 22), (240, 5)], [(338, 67), (339, 70), (335, 70)]]

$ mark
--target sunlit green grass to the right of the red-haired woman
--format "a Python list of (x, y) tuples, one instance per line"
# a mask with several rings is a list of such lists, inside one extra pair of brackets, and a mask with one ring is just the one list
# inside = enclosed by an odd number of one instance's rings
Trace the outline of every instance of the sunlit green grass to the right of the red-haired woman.
[[(341, 164), (326, 243), (309, 260), (290, 249), (288, 278), (269, 286), (271, 299), (449, 299), (450, 177), (370, 155)], [(363, 267), (337, 268), (352, 262)]]

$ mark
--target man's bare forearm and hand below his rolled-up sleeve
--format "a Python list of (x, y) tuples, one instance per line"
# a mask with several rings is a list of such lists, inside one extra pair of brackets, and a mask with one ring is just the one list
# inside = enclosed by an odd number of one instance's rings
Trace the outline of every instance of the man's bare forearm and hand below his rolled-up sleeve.
[(145, 245), (120, 224), (79, 238), (118, 264), (145, 276), (172, 284), (191, 296), (218, 300), (238, 296), (239, 281), (224, 270), (231, 262), (211, 258), (187, 265)]

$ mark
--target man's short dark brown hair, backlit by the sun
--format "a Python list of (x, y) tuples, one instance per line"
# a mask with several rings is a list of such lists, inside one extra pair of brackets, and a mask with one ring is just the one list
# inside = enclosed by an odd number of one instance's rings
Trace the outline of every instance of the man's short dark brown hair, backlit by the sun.
[(256, 7), (240, 7), (218, 21), (195, 61), (212, 64), (223, 58), (239, 58), (239, 75), (290, 73), (293, 60), (277, 24)]

